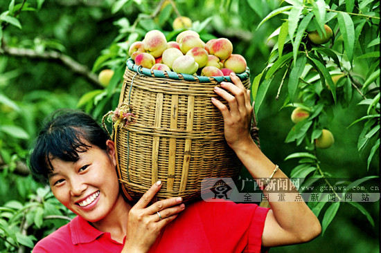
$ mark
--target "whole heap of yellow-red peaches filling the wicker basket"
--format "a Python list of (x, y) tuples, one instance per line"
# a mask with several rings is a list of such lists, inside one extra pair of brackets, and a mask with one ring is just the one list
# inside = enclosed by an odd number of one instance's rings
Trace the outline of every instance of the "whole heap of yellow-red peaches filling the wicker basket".
[(143, 68), (206, 77), (240, 74), (247, 67), (242, 55), (233, 54), (229, 39), (211, 39), (205, 43), (193, 30), (180, 32), (176, 41), (167, 41), (163, 32), (151, 30), (143, 41), (131, 44), (128, 54)]

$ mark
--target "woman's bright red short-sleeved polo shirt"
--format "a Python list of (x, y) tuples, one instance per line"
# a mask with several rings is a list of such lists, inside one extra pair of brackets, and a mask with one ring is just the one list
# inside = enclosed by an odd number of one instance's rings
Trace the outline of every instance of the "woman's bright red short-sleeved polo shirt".
[[(150, 252), (259, 253), (269, 209), (254, 204), (198, 201), (170, 223)], [(122, 243), (77, 216), (37, 243), (39, 252), (121, 252)]]

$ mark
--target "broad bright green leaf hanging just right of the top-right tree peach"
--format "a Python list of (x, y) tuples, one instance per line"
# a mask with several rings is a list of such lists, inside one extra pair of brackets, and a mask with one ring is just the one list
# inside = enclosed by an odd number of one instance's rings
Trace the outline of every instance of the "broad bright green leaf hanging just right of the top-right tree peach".
[(346, 55), (348, 56), (349, 62), (352, 63), (355, 50), (355, 28), (353, 21), (346, 12), (339, 12), (337, 14), (337, 21), (339, 22), (339, 28), (342, 32)]

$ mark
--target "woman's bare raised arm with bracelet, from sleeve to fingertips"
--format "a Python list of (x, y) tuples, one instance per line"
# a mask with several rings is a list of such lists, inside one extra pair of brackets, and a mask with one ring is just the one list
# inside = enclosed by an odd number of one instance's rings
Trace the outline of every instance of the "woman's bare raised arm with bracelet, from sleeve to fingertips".
[[(253, 109), (249, 92), (246, 91), (245, 86), (236, 75), (231, 75), (231, 80), (233, 84), (222, 82), (222, 88), (215, 88), (215, 93), (227, 100), (229, 109), (219, 100), (212, 98), (212, 102), (220, 109), (224, 117), (224, 133), (227, 143), (236, 152), (251, 176), (257, 180), (258, 185), (261, 185), (258, 178), (269, 178), (276, 165), (260, 151), (251, 139), (249, 125)], [(274, 131), (276, 130), (274, 129)], [(292, 185), (281, 169), (276, 171), (271, 183), (276, 184), (277, 178), (286, 179), (288, 185)], [(267, 193), (267, 190), (264, 189), (263, 192)], [(287, 194), (296, 196), (298, 193), (295, 187), (287, 190)], [(271, 210), (267, 214), (262, 236), (264, 247), (304, 243), (321, 233), (319, 220), (304, 201), (278, 202), (269, 198), (269, 204)]]

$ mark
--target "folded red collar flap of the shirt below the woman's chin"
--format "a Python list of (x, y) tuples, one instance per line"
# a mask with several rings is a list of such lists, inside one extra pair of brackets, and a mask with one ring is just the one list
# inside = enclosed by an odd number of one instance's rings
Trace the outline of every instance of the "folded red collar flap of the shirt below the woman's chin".
[(73, 245), (80, 243), (91, 243), (102, 234), (105, 234), (105, 232), (100, 232), (98, 229), (91, 226), (90, 223), (81, 216), (76, 216), (76, 218), (73, 218), (73, 221), (70, 223), (70, 230)]

